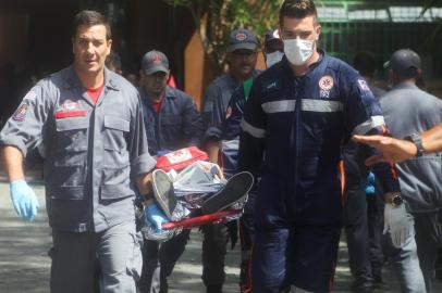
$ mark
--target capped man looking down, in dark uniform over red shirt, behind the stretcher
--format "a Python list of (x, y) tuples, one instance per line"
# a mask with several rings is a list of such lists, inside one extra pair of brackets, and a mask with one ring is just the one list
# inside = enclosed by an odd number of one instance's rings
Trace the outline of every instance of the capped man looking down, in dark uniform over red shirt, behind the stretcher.
[[(200, 114), (192, 97), (167, 86), (169, 60), (159, 51), (147, 52), (142, 60), (139, 94), (151, 155), (198, 145), (202, 135)], [(142, 292), (168, 292), (167, 278), (183, 254), (191, 230), (159, 244), (146, 240), (143, 246)]]

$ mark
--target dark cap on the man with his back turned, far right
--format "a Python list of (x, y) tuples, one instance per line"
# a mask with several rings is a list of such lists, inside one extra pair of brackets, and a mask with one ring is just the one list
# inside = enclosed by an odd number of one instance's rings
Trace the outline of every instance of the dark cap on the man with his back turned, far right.
[(390, 61), (385, 62), (383, 67), (391, 68), (398, 74), (410, 75), (420, 69), (420, 58), (410, 49), (401, 49), (391, 55)]

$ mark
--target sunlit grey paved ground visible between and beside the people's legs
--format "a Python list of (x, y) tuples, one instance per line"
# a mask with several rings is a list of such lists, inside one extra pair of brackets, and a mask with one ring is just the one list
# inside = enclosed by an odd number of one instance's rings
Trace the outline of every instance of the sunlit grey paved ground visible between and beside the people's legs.
[[(9, 199), (8, 184), (0, 183), (0, 292), (49, 292), (50, 260), (47, 252), (51, 246), (51, 237), (44, 212), (44, 188), (40, 184), (34, 184), (33, 188), (38, 194), (41, 208), (37, 219), (29, 224), (15, 215)], [(201, 235), (194, 230), (191, 238), (187, 250), (170, 280), (170, 293), (205, 292), (200, 280)], [(240, 252), (230, 251), (226, 259), (225, 293), (238, 292), (238, 263)], [(388, 282), (378, 292), (398, 292), (397, 283), (389, 267), (384, 269), (383, 277)], [(351, 281), (346, 245), (343, 240), (334, 292), (349, 292)], [(438, 284), (434, 292), (442, 292), (441, 284)]]

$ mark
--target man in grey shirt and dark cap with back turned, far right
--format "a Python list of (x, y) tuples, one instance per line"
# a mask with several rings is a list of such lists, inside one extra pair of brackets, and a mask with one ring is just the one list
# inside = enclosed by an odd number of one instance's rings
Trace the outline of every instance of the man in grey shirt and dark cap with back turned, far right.
[[(442, 101), (416, 86), (421, 76), (419, 55), (410, 49), (394, 52), (385, 67), (393, 88), (381, 99), (391, 135), (406, 138), (417, 146), (414, 158), (397, 164), (401, 190), (415, 218), (417, 254), (427, 292), (431, 292), (434, 263), (442, 246), (442, 153), (425, 154), (418, 133), (442, 123)], [(416, 245), (415, 244), (415, 245)], [(413, 279), (405, 251), (390, 250), (404, 280)]]

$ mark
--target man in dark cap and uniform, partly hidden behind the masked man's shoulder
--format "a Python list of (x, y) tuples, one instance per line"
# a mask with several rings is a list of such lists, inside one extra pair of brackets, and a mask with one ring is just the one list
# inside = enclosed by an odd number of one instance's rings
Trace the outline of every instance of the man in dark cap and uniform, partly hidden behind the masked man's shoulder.
[[(250, 30), (233, 30), (230, 34), (228, 47), (229, 72), (210, 82), (202, 97), (202, 120), (206, 127), (202, 145), (213, 163), (219, 163), (221, 127), (233, 90), (249, 77), (259, 74), (255, 69), (257, 46), (256, 36)], [(234, 224), (230, 225), (232, 235), (236, 234)], [(207, 225), (202, 227), (202, 232), (205, 234), (202, 281), (207, 292), (221, 292), (225, 279), (224, 256), (229, 240), (228, 227), (224, 224)]]

